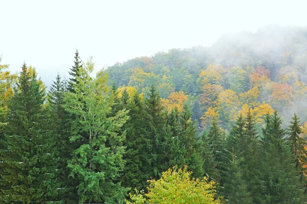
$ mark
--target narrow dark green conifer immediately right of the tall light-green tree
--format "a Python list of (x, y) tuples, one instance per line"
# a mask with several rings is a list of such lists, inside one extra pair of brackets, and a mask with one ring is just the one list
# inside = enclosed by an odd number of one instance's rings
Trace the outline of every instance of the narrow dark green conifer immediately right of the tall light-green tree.
[(146, 183), (148, 178), (144, 177), (143, 173), (146, 144), (144, 101), (137, 93), (129, 98), (128, 92), (124, 90), (120, 102), (125, 109), (129, 110), (129, 120), (123, 125), (123, 130), (126, 131), (126, 139), (123, 144), (126, 146), (126, 154), (123, 157), (126, 164), (121, 176), (122, 186), (138, 190), (145, 189), (148, 185)]

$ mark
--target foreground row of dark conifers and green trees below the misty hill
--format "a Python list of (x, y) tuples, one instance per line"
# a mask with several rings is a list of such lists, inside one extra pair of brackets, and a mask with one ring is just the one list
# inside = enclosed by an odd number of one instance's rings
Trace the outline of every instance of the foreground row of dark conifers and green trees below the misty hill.
[[(287, 129), (277, 111), (266, 114), (259, 132), (249, 109), (229, 134), (213, 116), (196, 136), (191, 104), (169, 109), (154, 85), (145, 94), (109, 85), (103, 70), (91, 77), (94, 63), (82, 63), (78, 52), (70, 79), (57, 75), (48, 93), (34, 68), (24, 63), (18, 75), (6, 68), (0, 67), (4, 203), (163, 202), (155, 196), (172, 181), (186, 184), (178, 192), (199, 194), (187, 198), (195, 203), (306, 201), (305, 140), (295, 114)], [(166, 189), (168, 202), (190, 196), (173, 189)]]

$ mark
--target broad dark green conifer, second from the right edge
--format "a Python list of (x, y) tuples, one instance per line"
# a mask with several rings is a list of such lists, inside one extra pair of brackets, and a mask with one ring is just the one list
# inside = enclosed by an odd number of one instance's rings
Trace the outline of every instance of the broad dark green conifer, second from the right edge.
[(305, 201), (303, 183), (290, 147), (286, 144), (287, 131), (281, 128), (277, 111), (267, 115), (263, 129), (260, 155), (260, 190), (257, 203), (298, 203)]

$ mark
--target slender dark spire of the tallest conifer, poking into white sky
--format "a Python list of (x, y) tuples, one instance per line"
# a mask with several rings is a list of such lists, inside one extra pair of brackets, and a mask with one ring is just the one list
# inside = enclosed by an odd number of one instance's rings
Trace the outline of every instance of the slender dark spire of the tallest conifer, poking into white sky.
[(75, 53), (75, 65), (72, 66), (70, 69), (71, 71), (69, 74), (72, 76), (72, 78), (69, 79), (68, 82), (68, 91), (74, 93), (75, 92), (75, 86), (79, 83), (78, 78), (82, 78), (83, 76), (80, 75), (80, 70), (83, 68), (82, 61), (79, 57), (79, 52), (76, 49)]

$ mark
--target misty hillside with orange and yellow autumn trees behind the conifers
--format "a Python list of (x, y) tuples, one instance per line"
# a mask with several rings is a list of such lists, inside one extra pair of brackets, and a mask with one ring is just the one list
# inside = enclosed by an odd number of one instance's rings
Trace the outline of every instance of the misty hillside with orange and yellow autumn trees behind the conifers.
[[(259, 122), (276, 109), (286, 121), (307, 120), (307, 28), (269, 25), (223, 35), (212, 46), (170, 49), (108, 67), (109, 81), (147, 93), (157, 86), (168, 106), (193, 106), (208, 128), (212, 115), (229, 129), (248, 107)], [(200, 119), (201, 117), (201, 119)]]

